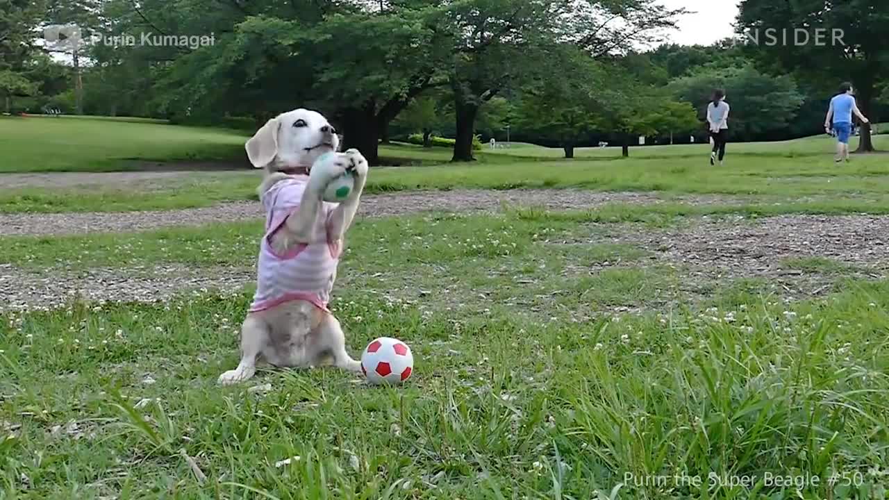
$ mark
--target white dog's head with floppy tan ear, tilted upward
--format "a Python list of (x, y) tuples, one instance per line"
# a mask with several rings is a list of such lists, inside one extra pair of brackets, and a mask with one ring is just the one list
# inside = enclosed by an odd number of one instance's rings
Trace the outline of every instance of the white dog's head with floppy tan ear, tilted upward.
[(321, 113), (293, 109), (274, 117), (244, 144), (247, 157), (255, 168), (269, 173), (305, 168), (317, 157), (340, 148), (336, 129)]

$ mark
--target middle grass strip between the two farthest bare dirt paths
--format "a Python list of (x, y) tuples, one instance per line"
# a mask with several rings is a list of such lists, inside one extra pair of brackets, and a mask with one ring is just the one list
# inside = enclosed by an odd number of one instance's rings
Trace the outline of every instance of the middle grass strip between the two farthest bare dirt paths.
[[(829, 146), (829, 145), (828, 145)], [(736, 154), (722, 167), (708, 163), (706, 149), (695, 158), (588, 158), (573, 161), (485, 155), (471, 165), (434, 165), (434, 155), (414, 146), (384, 151), (414, 157), (429, 166), (375, 167), (368, 194), (404, 190), (557, 189), (658, 191), (665, 198), (717, 194), (749, 198), (830, 198), (831, 203), (869, 201), (875, 209), (889, 196), (889, 156), (853, 157), (836, 165), (820, 157), (758, 157)], [(490, 161), (499, 157), (507, 161)], [(425, 159), (424, 159), (425, 158)], [(159, 180), (150, 189), (128, 186), (0, 190), (0, 212), (119, 212), (211, 206), (223, 201), (256, 200), (260, 173), (189, 173)], [(0, 177), (2, 180), (2, 177)], [(554, 191), (553, 196), (557, 196)], [(775, 201), (775, 200), (772, 200)], [(798, 200), (797, 200), (798, 201)]]

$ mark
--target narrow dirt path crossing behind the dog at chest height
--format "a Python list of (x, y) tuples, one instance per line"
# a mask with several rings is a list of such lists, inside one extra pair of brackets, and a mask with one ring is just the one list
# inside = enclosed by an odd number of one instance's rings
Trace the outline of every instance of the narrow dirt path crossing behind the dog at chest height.
[[(412, 214), (429, 210), (493, 212), (502, 203), (517, 206), (546, 206), (571, 210), (608, 203), (651, 204), (662, 201), (651, 193), (600, 193), (588, 190), (451, 190), (408, 191), (368, 195), (362, 198), (359, 214), (376, 217)], [(680, 198), (693, 204), (733, 203), (734, 198), (697, 196)], [(0, 236), (60, 235), (95, 232), (151, 230), (262, 218), (259, 202), (224, 203), (204, 208), (122, 213), (0, 214)]]

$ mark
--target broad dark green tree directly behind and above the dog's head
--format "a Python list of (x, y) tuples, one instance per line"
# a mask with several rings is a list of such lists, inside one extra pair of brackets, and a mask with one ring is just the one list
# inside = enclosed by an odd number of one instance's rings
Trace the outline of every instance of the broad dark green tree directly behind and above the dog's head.
[[(174, 10), (169, 2), (154, 9)], [(257, 122), (294, 107), (332, 118), (343, 146), (378, 163), (380, 137), (412, 98), (436, 80), (446, 49), (429, 19), (435, 3), (401, 0), (243, 3), (206, 13), (202, 0), (174, 0), (188, 26), (212, 30), (217, 43), (172, 54), (163, 88), (167, 108), (247, 113)], [(164, 15), (157, 15), (164, 19)], [(167, 16), (169, 17), (169, 16)], [(208, 26), (209, 25), (209, 26)]]

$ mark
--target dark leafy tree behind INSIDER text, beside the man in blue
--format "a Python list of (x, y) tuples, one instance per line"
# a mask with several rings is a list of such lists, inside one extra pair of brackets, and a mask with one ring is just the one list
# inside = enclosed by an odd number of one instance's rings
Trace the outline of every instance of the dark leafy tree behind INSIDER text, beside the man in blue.
[[(747, 34), (751, 57), (776, 73), (793, 71), (803, 79), (851, 80), (861, 111), (871, 119), (877, 87), (889, 77), (889, 9), (884, 0), (743, 0), (738, 28)], [(796, 32), (803, 29), (807, 40)], [(768, 30), (773, 31), (768, 31)], [(819, 37), (819, 31), (821, 37)], [(788, 46), (783, 42), (789, 36)], [(836, 37), (835, 35), (838, 35)], [(824, 105), (825, 111), (827, 104)], [(857, 152), (873, 151), (870, 126), (861, 127)]]

